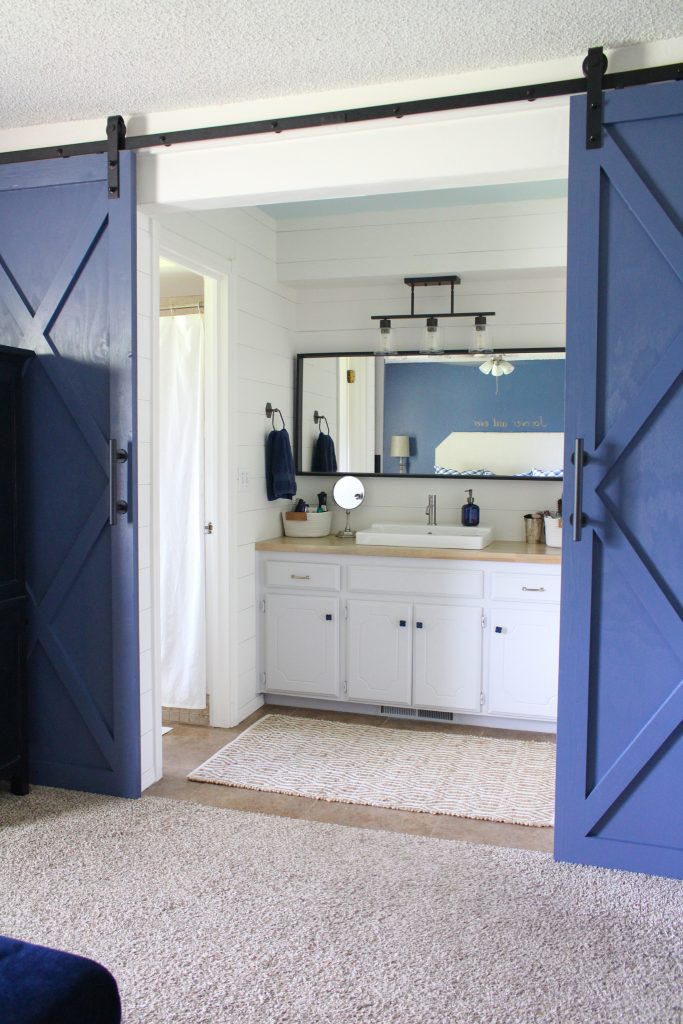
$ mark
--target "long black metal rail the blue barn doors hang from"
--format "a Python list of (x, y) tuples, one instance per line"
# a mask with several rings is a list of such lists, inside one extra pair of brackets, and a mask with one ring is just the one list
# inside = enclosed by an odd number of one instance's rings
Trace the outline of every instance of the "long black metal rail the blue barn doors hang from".
[[(602, 79), (602, 88), (603, 90), (623, 89), (631, 85), (649, 85), (654, 82), (671, 82), (681, 79), (683, 79), (683, 62), (605, 75)], [(466, 92), (454, 96), (413, 99), (403, 103), (383, 103), (378, 106), (357, 106), (345, 111), (328, 111), (323, 114), (301, 114), (279, 120), (247, 121), (240, 124), (213, 125), (202, 128), (186, 128), (180, 131), (131, 135), (122, 139), (121, 151), (153, 150), (157, 146), (178, 145), (183, 142), (209, 142), (220, 139), (240, 138), (247, 135), (280, 134), (286, 131), (297, 131), (301, 128), (325, 128), (330, 125), (358, 124), (367, 121), (411, 117), (416, 114), (435, 114), (442, 111), (468, 110), (473, 106), (548, 99), (553, 96), (570, 96), (585, 93), (586, 91), (587, 81), (585, 78), (564, 79), (557, 82), (535, 82), (530, 85), (510, 86), (506, 89), (488, 89), (481, 92)], [(0, 153), (0, 165), (17, 164), (35, 160), (52, 160), (60, 157), (91, 156), (106, 153), (106, 139), (99, 139), (92, 142), (73, 142), (67, 145), (48, 145), (33, 150), (15, 150), (9, 153)]]

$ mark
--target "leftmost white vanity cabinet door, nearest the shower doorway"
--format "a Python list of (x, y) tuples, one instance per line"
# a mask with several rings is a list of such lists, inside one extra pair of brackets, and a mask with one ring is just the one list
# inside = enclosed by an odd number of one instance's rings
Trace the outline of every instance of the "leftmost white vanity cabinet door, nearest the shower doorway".
[(337, 696), (339, 601), (270, 594), (265, 604), (265, 672), (268, 690)]

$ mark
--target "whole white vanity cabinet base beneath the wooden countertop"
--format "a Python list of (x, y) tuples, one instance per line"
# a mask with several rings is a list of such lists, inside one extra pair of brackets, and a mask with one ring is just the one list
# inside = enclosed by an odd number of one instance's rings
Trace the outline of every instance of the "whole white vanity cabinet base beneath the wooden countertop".
[(265, 693), (551, 727), (558, 564), (352, 551), (261, 556)]

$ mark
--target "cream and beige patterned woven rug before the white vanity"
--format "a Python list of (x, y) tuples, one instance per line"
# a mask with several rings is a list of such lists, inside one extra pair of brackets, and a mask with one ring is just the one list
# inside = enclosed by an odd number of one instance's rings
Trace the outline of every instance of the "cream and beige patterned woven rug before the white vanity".
[(187, 777), (344, 804), (552, 825), (555, 744), (266, 715)]

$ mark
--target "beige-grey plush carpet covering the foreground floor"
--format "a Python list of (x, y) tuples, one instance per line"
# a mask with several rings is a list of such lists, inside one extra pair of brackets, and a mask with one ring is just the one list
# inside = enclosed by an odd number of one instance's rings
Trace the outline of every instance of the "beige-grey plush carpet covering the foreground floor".
[(0, 932), (101, 961), (125, 1024), (680, 1024), (682, 890), (187, 802), (0, 794)]

